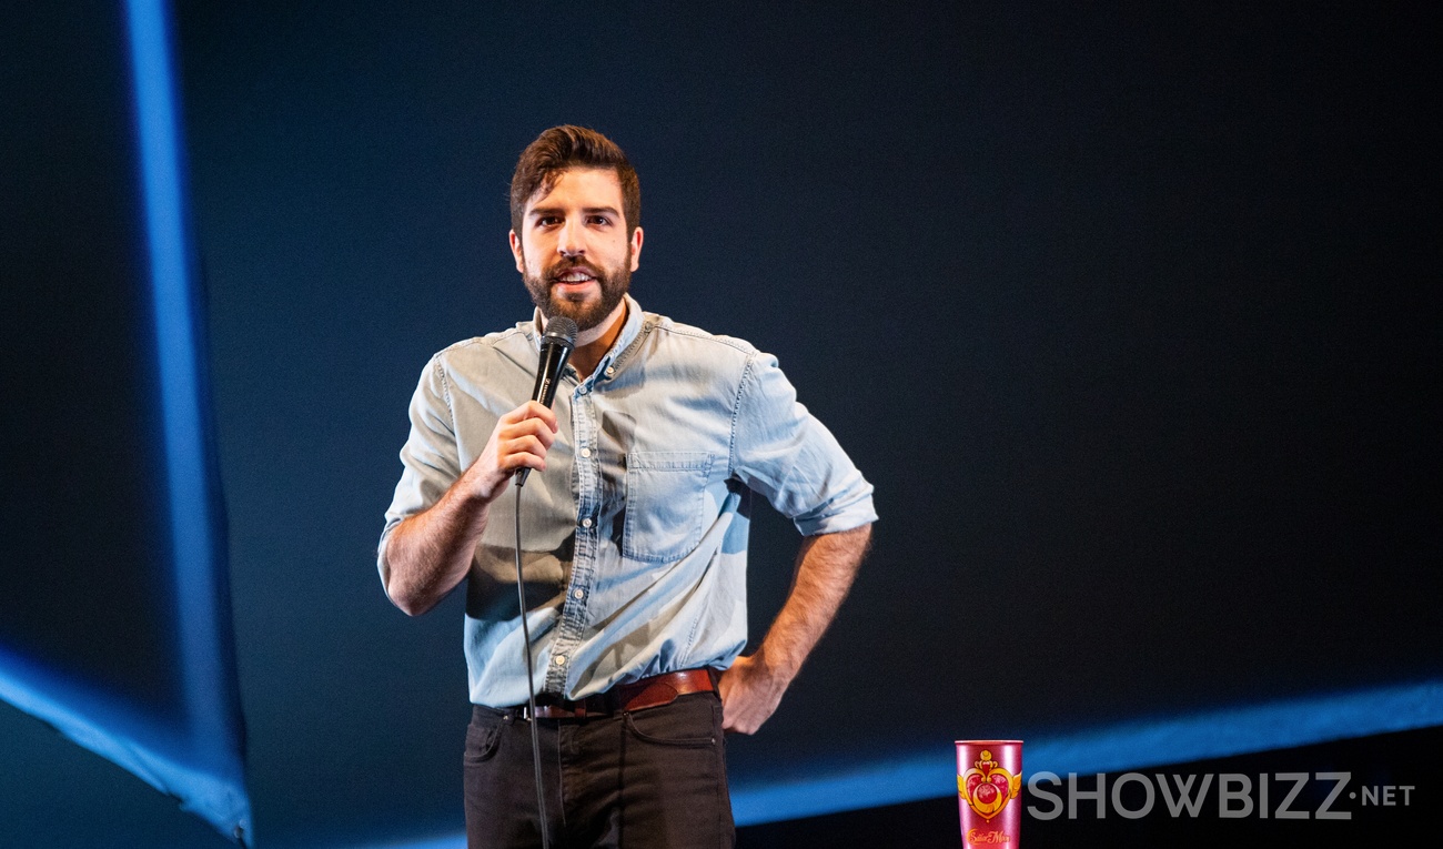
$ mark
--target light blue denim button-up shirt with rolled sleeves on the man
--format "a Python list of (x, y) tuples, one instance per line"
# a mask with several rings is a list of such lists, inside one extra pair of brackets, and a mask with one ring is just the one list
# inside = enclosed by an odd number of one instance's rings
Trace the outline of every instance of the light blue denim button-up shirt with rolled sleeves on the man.
[[(628, 297), (620, 336), (586, 380), (560, 381), (544, 472), (521, 494), (521, 557), (537, 692), (582, 699), (691, 667), (726, 669), (746, 645), (750, 492), (802, 534), (876, 518), (872, 485), (797, 403), (776, 358), (644, 313)], [(531, 397), (537, 322), (436, 354), (411, 399), (385, 541)], [(515, 494), (491, 517), (466, 582), (470, 700), (527, 700), (515, 591)]]

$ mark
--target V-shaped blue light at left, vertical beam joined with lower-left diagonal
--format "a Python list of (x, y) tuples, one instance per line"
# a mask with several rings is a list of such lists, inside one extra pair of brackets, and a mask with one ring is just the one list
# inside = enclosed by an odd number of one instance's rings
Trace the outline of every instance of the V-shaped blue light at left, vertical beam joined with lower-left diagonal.
[[(140, 201), (149, 279), (127, 280), (152, 295), (166, 510), (185, 720), (173, 722), (66, 673), (0, 647), (0, 699), (114, 761), (221, 833), (250, 832), (241, 720), (228, 621), (224, 513), (209, 433), (201, 323), (186, 225), (180, 120), (163, 0), (127, 0), (124, 32), (134, 94)], [(107, 14), (100, 19), (111, 26)], [(107, 33), (110, 35), (110, 33)], [(126, 144), (128, 149), (130, 146)], [(165, 565), (162, 565), (163, 567)]]

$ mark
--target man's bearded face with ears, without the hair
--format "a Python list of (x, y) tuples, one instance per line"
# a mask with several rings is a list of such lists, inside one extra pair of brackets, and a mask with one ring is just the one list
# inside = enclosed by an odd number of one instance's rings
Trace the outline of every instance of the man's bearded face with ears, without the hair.
[[(544, 193), (543, 193), (544, 192)], [(511, 253), (541, 315), (586, 332), (616, 312), (641, 258), (641, 228), (626, 232), (612, 169), (571, 167), (538, 191), (511, 231)]]

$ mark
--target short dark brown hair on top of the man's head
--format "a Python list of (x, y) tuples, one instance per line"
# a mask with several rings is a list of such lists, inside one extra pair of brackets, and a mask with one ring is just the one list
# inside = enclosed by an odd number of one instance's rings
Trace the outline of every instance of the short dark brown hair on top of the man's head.
[(527, 144), (511, 176), (511, 228), (521, 232), (527, 201), (538, 191), (550, 192), (557, 178), (569, 167), (609, 167), (622, 185), (622, 215), (628, 235), (641, 224), (641, 180), (636, 169), (615, 142), (596, 130), (563, 124), (551, 127)]

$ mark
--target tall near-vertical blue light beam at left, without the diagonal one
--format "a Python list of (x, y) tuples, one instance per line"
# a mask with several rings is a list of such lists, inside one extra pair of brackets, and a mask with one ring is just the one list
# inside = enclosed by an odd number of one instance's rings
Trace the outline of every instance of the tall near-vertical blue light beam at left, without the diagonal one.
[(250, 833), (250, 801), (238, 751), (238, 705), (228, 669), (229, 622), (224, 527), (212, 497), (214, 466), (203, 414), (192, 240), (185, 157), (165, 0), (127, 0), (141, 196), (156, 321), (165, 432), (172, 563), (176, 580), (180, 670), (189, 720), (188, 759), (206, 780), (169, 787), (222, 833)]

